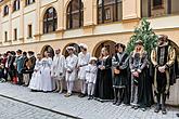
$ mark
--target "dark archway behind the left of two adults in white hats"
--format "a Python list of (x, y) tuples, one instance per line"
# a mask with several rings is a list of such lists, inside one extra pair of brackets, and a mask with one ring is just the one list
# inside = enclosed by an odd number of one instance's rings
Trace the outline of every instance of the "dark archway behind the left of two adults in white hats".
[(67, 55), (68, 55), (68, 53), (67, 53), (67, 51), (66, 51), (66, 48), (67, 47), (74, 47), (75, 49), (76, 49), (76, 51), (75, 51), (75, 54), (76, 55), (78, 55), (78, 53), (80, 52), (80, 48), (79, 48), (79, 45), (77, 44), (77, 43), (69, 43), (69, 44), (67, 44), (64, 49), (63, 49), (63, 52), (62, 52), (62, 54), (65, 56), (65, 57), (67, 57)]

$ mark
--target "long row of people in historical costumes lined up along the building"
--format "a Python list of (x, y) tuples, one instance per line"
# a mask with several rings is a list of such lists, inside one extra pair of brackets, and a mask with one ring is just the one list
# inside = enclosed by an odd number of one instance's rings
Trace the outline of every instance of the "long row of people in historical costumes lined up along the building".
[[(167, 36), (158, 36), (157, 47), (151, 54), (144, 50), (142, 40), (136, 41), (130, 54), (126, 53), (125, 44), (117, 43), (115, 55), (110, 56), (107, 49), (102, 48), (98, 58), (90, 55), (86, 44), (80, 43), (79, 48), (80, 53), (76, 55), (76, 49), (67, 47), (67, 57), (61, 54), (60, 49), (55, 49), (54, 57), (46, 51), (37, 54), (37, 58), (33, 51), (9, 51), (0, 60), (0, 78), (28, 87), (33, 92), (53, 91), (62, 94), (66, 89), (65, 97), (73, 95), (74, 81), (78, 79), (79, 97), (112, 101), (116, 106), (124, 103), (144, 111), (154, 104), (155, 95), (154, 111), (167, 113), (165, 102), (169, 95), (171, 67), (176, 61), (175, 49)], [(150, 75), (151, 66), (153, 75)]]

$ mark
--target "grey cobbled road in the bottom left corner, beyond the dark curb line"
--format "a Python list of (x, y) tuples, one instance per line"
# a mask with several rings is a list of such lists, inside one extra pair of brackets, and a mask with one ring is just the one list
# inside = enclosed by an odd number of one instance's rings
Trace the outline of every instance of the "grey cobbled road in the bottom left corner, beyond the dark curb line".
[(0, 119), (68, 119), (66, 116), (0, 97)]

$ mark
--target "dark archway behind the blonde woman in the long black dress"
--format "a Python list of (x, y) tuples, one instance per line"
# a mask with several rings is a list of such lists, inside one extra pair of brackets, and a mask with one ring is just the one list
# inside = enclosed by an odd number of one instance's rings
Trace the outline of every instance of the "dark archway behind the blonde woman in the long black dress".
[(95, 45), (92, 54), (93, 54), (93, 56), (99, 57), (100, 53), (101, 53), (101, 49), (105, 47), (105, 48), (107, 48), (108, 53), (112, 56), (115, 54), (115, 44), (116, 44), (116, 42), (111, 41), (111, 40), (99, 42)]

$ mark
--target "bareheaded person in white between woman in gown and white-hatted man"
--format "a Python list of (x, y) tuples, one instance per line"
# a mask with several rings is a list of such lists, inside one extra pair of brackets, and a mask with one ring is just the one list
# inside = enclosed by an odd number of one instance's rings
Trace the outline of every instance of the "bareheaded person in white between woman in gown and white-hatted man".
[(55, 56), (52, 62), (52, 78), (55, 81), (55, 92), (63, 92), (63, 80), (65, 78), (65, 56), (61, 54), (61, 50), (55, 50)]

